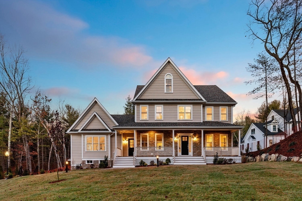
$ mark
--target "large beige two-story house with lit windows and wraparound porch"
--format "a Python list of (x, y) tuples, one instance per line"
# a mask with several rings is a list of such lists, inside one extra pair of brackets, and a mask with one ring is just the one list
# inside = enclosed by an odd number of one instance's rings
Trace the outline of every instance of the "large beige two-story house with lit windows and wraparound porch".
[[(212, 163), (214, 155), (241, 162), (233, 147), (237, 104), (216, 85), (193, 86), (168, 58), (132, 101), (135, 115), (110, 115), (95, 98), (69, 128), (71, 163), (83, 166), (108, 155), (113, 167), (135, 167), (140, 160), (172, 164)], [(240, 137), (239, 137), (240, 139)]]

